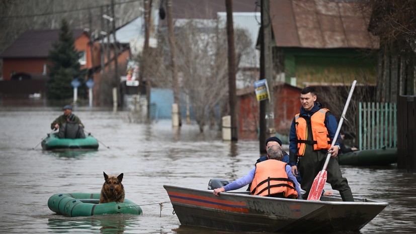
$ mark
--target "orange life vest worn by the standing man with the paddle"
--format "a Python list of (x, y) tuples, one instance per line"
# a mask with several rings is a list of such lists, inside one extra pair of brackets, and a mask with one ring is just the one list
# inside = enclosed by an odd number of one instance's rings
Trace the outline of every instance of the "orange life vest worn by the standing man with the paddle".
[(329, 110), (321, 108), (310, 117), (313, 140), (308, 140), (308, 134), (310, 133), (308, 132), (306, 120), (299, 116), (300, 113), (295, 115), (298, 156), (303, 156), (305, 154), (306, 144), (313, 145), (313, 150), (330, 148), (331, 139), (329, 138), (328, 129), (326, 129), (324, 124), (327, 111)]

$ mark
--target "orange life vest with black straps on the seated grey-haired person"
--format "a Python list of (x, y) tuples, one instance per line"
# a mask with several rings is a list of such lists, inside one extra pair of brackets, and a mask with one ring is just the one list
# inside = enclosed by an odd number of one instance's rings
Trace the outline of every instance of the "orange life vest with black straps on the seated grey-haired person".
[(284, 197), (297, 198), (294, 181), (288, 179), (286, 163), (278, 160), (266, 160), (256, 164), (256, 173), (250, 187), (252, 195), (268, 196), (282, 193)]

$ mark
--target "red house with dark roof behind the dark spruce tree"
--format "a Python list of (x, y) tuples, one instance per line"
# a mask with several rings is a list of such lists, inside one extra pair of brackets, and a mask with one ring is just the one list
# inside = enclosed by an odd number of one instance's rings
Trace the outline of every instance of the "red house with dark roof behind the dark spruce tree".
[[(29, 30), (20, 35), (2, 53), (3, 77), (0, 93), (4, 96), (28, 97), (46, 94), (49, 50), (58, 40), (59, 30)], [(75, 48), (81, 52), (81, 69), (92, 67), (92, 53), (99, 60), (99, 48), (89, 44), (90, 37), (83, 30), (72, 30)], [(25, 81), (16, 83), (16, 81)]]

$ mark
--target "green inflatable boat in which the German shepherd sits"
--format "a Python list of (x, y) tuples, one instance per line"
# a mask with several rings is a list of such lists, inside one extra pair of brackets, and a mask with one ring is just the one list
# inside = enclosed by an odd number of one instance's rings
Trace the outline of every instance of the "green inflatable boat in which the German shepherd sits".
[(99, 202), (99, 193), (59, 193), (49, 198), (48, 207), (53, 212), (68, 217), (143, 213), (139, 205), (127, 199), (124, 202)]

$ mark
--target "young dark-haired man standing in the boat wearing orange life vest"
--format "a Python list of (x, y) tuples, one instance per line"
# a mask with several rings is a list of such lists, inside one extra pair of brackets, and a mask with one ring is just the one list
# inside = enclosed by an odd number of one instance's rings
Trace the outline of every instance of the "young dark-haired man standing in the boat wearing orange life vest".
[[(316, 99), (315, 90), (311, 87), (300, 92), (302, 107), (292, 121), (289, 134), (289, 165), (292, 167), (292, 174), (301, 175), (300, 186), (306, 191), (303, 199), (307, 199), (313, 180), (322, 170), (327, 153), (331, 153), (326, 167), (326, 182), (331, 184), (332, 189), (340, 192), (343, 201), (354, 201), (351, 188), (347, 179), (342, 176), (336, 158), (340, 144), (336, 142), (330, 147), (337, 131), (337, 119), (328, 109), (322, 108)], [(338, 138), (341, 136), (338, 135)]]

